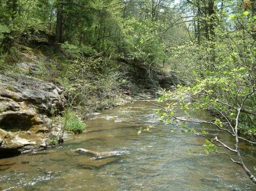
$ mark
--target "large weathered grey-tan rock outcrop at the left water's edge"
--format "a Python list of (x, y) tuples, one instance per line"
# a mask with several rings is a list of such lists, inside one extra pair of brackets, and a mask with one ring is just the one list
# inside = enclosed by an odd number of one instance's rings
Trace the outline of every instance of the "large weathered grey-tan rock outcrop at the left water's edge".
[[(24, 70), (30, 64), (22, 63)], [(26, 67), (25, 67), (26, 66)], [(36, 65), (33, 65), (36, 71)], [(0, 74), (0, 157), (44, 145), (50, 116), (65, 107), (63, 90), (23, 74)]]

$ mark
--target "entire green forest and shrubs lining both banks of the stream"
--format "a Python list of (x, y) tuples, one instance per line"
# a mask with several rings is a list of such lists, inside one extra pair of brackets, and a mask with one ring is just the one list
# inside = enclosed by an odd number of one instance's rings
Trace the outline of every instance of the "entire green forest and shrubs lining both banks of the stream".
[[(253, 153), (256, 144), (256, 1), (1, 0), (0, 9), (0, 73), (63, 87), (66, 130), (75, 124), (81, 132), (87, 113), (118, 105), (123, 95), (158, 93), (152, 104), (162, 122), (204, 137), (205, 152), (226, 155), (256, 183), (240, 148)], [(20, 70), (22, 62), (38, 69)], [(159, 86), (158, 75), (175, 82)], [(168, 100), (177, 101), (161, 104)], [(199, 111), (212, 119), (190, 117)], [(234, 144), (189, 122), (225, 131)]]

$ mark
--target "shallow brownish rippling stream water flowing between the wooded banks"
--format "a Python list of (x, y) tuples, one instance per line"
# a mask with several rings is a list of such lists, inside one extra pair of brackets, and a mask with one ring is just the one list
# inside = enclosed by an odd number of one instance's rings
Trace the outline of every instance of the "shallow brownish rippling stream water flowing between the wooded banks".
[[(256, 190), (228, 156), (204, 154), (204, 139), (181, 133), (178, 126), (159, 124), (138, 136), (141, 126), (150, 125), (144, 122), (156, 121), (154, 109), (146, 101), (110, 109), (88, 120), (86, 133), (75, 141), (0, 159), (0, 190)], [(178, 114), (184, 116), (183, 111)], [(205, 113), (191, 117), (210, 118)], [(234, 145), (229, 135), (205, 128)], [(255, 157), (242, 146), (246, 155)], [(73, 152), (76, 148), (115, 156), (95, 160)], [(256, 165), (249, 157), (245, 162), (249, 168)]]

